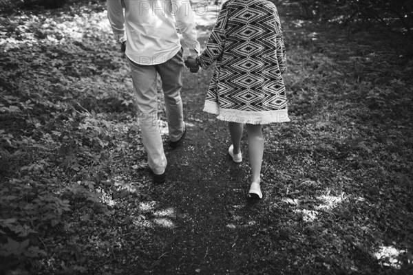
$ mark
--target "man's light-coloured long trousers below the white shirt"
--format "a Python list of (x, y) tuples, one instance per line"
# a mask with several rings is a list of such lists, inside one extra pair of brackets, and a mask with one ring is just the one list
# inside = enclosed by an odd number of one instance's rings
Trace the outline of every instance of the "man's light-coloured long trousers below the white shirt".
[(147, 162), (153, 173), (162, 174), (167, 167), (158, 124), (158, 89), (156, 87), (157, 75), (162, 80), (165, 105), (167, 108), (167, 124), (169, 140), (176, 141), (184, 131), (184, 118), (182, 113), (182, 73), (184, 61), (183, 49), (165, 63), (157, 65), (139, 65), (129, 61), (136, 102), (138, 104), (138, 120), (142, 135), (142, 143), (147, 152)]

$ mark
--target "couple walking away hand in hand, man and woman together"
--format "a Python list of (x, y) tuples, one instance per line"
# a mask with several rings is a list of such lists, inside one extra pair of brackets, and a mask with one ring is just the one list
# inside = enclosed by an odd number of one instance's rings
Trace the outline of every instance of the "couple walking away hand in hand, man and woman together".
[[(248, 197), (262, 199), (262, 124), (289, 121), (282, 78), (286, 50), (277, 8), (268, 0), (226, 1), (200, 54), (189, 1), (142, 2), (107, 0), (107, 12), (131, 68), (142, 143), (153, 181), (164, 182), (167, 167), (156, 123), (157, 74), (165, 96), (169, 146), (175, 148), (187, 133), (180, 97), (184, 65), (196, 73), (215, 63), (204, 111), (229, 123), (232, 144), (228, 153), (237, 163), (242, 162), (240, 145), (246, 127), (252, 172)], [(171, 6), (175, 10), (168, 8)], [(185, 61), (176, 27), (189, 47), (190, 56)]]

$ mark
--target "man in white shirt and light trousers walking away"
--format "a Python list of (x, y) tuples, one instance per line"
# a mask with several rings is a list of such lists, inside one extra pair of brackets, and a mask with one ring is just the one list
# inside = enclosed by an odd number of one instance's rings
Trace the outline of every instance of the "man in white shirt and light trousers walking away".
[(153, 181), (162, 183), (166, 179), (167, 158), (157, 123), (156, 78), (159, 74), (162, 80), (169, 146), (175, 148), (187, 131), (180, 97), (183, 49), (176, 26), (190, 56), (200, 52), (191, 4), (182, 0), (107, 0), (107, 17), (131, 68), (149, 170)]

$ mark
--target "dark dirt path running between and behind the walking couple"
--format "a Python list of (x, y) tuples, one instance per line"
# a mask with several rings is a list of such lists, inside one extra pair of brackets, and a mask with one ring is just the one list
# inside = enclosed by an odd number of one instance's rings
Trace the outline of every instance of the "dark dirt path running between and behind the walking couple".
[[(238, 270), (233, 257), (251, 258), (246, 246), (255, 228), (238, 230), (234, 211), (248, 208), (248, 162), (232, 162), (226, 123), (202, 112), (212, 69), (185, 74), (182, 92), (187, 138), (168, 150), (168, 181), (159, 207), (172, 209), (171, 228), (162, 232), (165, 250), (155, 274), (227, 274)], [(189, 81), (198, 78), (198, 81)], [(244, 148), (244, 154), (246, 153)], [(237, 261), (235, 261), (237, 262)]]

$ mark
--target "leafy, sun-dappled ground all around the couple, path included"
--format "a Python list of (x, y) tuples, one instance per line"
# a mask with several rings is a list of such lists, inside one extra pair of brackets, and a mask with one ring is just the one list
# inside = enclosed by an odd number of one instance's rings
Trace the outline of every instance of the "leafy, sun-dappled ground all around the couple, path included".
[(202, 113), (212, 69), (185, 72), (189, 133), (153, 186), (102, 3), (2, 18), (3, 274), (412, 272), (411, 42), (282, 19), (291, 122), (264, 126), (257, 202), (246, 142), (232, 164)]

